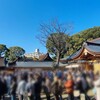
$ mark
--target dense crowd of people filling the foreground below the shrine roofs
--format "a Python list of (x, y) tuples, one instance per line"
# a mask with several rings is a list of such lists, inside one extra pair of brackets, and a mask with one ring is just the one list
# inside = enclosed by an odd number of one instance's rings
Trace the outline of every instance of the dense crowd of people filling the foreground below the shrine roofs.
[[(11, 96), (11, 100), (41, 100), (41, 93), (51, 100), (50, 94), (55, 100), (63, 100), (62, 94), (68, 94), (68, 100), (80, 100), (74, 97), (74, 90), (85, 94), (89, 100), (87, 91), (100, 87), (99, 73), (94, 75), (93, 71), (82, 68), (69, 69), (66, 71), (15, 71), (14, 73), (0, 73), (0, 100), (5, 99), (5, 94)], [(99, 82), (96, 82), (99, 81)], [(96, 88), (93, 89), (96, 93)], [(98, 94), (99, 95), (99, 94)], [(97, 100), (98, 97), (97, 97)]]

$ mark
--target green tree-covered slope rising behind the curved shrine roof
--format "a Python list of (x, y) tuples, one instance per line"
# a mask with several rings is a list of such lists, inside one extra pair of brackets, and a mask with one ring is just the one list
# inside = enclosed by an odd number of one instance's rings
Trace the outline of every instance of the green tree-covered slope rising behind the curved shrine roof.
[(100, 37), (100, 27), (93, 27), (70, 36), (67, 55), (71, 55), (81, 48), (83, 42)]

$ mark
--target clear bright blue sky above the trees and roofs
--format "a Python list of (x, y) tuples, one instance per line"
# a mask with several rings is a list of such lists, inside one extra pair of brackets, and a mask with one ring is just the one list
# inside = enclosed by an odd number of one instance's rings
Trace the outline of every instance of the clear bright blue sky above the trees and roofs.
[(41, 22), (57, 18), (73, 23), (73, 32), (100, 26), (99, 0), (0, 0), (0, 44), (21, 46), (27, 53), (46, 48), (36, 39)]

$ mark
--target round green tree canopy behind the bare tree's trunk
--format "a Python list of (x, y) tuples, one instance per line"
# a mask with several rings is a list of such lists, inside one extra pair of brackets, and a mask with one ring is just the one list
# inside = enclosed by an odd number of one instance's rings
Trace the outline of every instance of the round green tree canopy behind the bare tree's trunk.
[(50, 54), (57, 56), (57, 52), (60, 53), (60, 57), (67, 52), (68, 35), (64, 33), (52, 33), (47, 39), (46, 48)]

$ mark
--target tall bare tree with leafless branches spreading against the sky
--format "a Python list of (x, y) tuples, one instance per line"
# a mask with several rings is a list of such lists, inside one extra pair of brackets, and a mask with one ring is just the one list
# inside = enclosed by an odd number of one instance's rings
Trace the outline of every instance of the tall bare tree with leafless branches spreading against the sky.
[(37, 38), (46, 46), (49, 53), (56, 55), (57, 66), (59, 66), (61, 55), (66, 52), (71, 29), (72, 25), (61, 24), (58, 20), (53, 20), (48, 24), (40, 24), (40, 34), (38, 34)]

